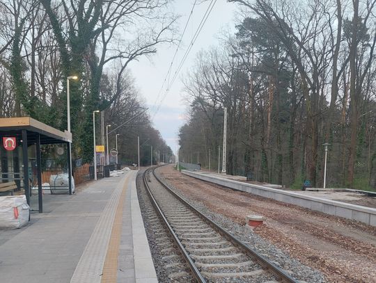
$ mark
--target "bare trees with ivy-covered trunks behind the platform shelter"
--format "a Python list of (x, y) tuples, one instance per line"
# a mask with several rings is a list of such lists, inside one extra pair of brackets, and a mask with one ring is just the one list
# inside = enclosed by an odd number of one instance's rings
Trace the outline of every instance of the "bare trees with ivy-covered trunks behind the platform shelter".
[[(101, 116), (109, 124), (109, 147), (118, 136), (120, 161), (150, 164), (150, 145), (169, 153), (152, 127), (129, 71), (132, 61), (174, 41), (169, 0), (1, 0), (0, 117), (30, 116), (67, 129), (67, 79), (73, 157), (93, 160), (93, 111), (97, 145)], [(119, 127), (120, 126), (120, 127)], [(148, 146), (147, 146), (148, 145)]]

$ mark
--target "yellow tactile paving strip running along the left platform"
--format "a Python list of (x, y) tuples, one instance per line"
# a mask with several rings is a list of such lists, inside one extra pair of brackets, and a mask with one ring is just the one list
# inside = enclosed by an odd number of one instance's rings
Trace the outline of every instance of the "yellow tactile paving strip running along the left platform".
[[(129, 176), (127, 176), (128, 178)], [(125, 181), (123, 191), (120, 194), (118, 207), (116, 207), (115, 218), (111, 229), (111, 237), (107, 248), (106, 259), (104, 260), (102, 283), (116, 283), (118, 274), (118, 253), (121, 237), (121, 227), (123, 225), (123, 205), (128, 182)]]

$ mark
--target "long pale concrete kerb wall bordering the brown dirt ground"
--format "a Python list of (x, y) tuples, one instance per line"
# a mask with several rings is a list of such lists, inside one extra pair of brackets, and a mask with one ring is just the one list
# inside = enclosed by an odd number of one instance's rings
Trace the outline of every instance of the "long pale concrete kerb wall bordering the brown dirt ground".
[(245, 191), (254, 195), (272, 198), (281, 202), (295, 204), (299, 207), (305, 207), (322, 213), (340, 216), (351, 220), (361, 221), (368, 225), (376, 226), (376, 209), (361, 207), (356, 204), (347, 204), (345, 202), (338, 202), (336, 200), (325, 200), (320, 197), (312, 197), (309, 195), (301, 195), (299, 193), (290, 191), (280, 191), (276, 188), (269, 188), (255, 184), (248, 184), (241, 181), (234, 181), (224, 179), (210, 174), (203, 174), (201, 172), (192, 172), (189, 170), (182, 170), (182, 173), (203, 181), (209, 181), (214, 184), (233, 188), (237, 191)]

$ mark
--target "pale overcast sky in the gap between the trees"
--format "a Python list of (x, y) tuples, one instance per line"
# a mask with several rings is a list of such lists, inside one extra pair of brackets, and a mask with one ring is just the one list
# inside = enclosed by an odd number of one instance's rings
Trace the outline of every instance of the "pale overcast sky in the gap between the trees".
[[(200, 1), (197, 1), (200, 2)], [(181, 15), (179, 19), (180, 33), (182, 33), (184, 26), (191, 12), (194, 0), (175, 0), (173, 8), (175, 13)], [(198, 25), (201, 22), (203, 15), (209, 6), (210, 1), (205, 1), (194, 8), (194, 13), (191, 16), (187, 31), (182, 38), (180, 50), (175, 57), (172, 74), (178, 67), (178, 63), (185, 54), (185, 51), (191, 42), (191, 39), (196, 32)], [(196, 54), (200, 50), (209, 49), (210, 46), (219, 45), (218, 38), (221, 31), (234, 30), (236, 6), (233, 3), (228, 3), (226, 0), (217, 0), (208, 17), (205, 26), (201, 30), (200, 35), (191, 48), (185, 64), (182, 66), (178, 78), (173, 83), (171, 90), (167, 93), (162, 106), (155, 115), (152, 122), (154, 126), (160, 131), (166, 143), (171, 147), (173, 152), (178, 149), (178, 131), (179, 127), (185, 123), (185, 114), (187, 113), (187, 102), (184, 101), (184, 86), (182, 84), (182, 77), (187, 74), (188, 70), (194, 64)], [(178, 36), (180, 38), (180, 36)], [(157, 54), (152, 56), (151, 61), (148, 58), (141, 58), (139, 62), (134, 61), (130, 65), (130, 70), (136, 79), (136, 86), (139, 88), (141, 95), (146, 99), (146, 104), (149, 107), (150, 115), (153, 114), (153, 105), (157, 98), (158, 92), (162, 87), (162, 83), (169, 70), (173, 54), (176, 46), (159, 47)], [(162, 95), (165, 92), (162, 92)], [(153, 117), (153, 116), (152, 116)]]

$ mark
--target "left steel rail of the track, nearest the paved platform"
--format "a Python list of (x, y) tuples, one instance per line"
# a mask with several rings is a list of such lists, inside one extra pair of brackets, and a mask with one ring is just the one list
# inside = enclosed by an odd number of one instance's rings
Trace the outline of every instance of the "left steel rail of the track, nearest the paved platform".
[[(153, 195), (152, 195), (152, 193), (150, 191), (150, 188), (149, 188), (149, 185), (148, 185), (148, 181), (146, 180), (147, 172), (150, 171), (150, 170), (153, 170), (153, 168), (149, 168), (149, 169), (145, 170), (145, 172), (143, 172), (143, 184), (145, 185), (146, 192), (148, 193), (148, 195), (150, 197), (152, 205), (155, 207), (155, 210), (159, 214), (160, 218), (162, 218), (162, 220), (164, 222), (164, 225), (166, 225), (167, 229), (169, 230), (169, 232), (170, 232), (170, 234), (171, 234), (171, 236), (173, 238), (173, 241), (178, 246), (178, 250), (180, 250), (180, 253), (182, 254), (182, 257), (187, 262), (187, 264), (189, 266), (189, 269), (191, 270), (191, 273), (192, 273), (194, 279), (197, 282), (199, 282), (199, 283), (206, 283), (205, 278), (203, 277), (203, 275), (201, 275), (200, 270), (198, 270), (198, 268), (194, 264), (193, 259), (191, 259), (191, 257), (189, 256), (187, 250), (185, 250), (185, 248), (182, 245), (182, 243), (180, 242), (178, 236), (176, 236), (176, 234), (173, 231), (171, 225), (169, 224), (169, 221), (164, 216), (164, 213), (162, 212), (162, 209), (159, 208), (157, 200), (155, 200), (155, 198), (153, 197)], [(149, 179), (149, 181), (150, 181), (150, 179)]]

